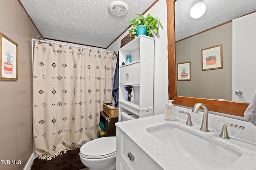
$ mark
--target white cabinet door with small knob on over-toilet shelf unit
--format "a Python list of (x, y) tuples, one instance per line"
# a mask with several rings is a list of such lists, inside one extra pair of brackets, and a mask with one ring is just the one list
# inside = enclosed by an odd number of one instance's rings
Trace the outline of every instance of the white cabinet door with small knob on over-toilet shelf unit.
[(140, 62), (120, 67), (119, 83), (140, 84)]

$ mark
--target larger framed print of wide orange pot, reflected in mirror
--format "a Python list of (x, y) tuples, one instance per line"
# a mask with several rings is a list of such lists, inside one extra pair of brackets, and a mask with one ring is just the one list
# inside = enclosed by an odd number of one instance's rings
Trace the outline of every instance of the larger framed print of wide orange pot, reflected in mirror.
[(222, 68), (222, 44), (202, 49), (202, 70)]

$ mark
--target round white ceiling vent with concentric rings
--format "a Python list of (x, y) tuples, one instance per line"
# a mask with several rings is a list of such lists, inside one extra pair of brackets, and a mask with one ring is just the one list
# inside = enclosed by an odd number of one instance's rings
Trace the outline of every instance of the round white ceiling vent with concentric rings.
[(128, 12), (128, 5), (122, 1), (114, 1), (109, 5), (108, 9), (116, 16), (123, 16)]

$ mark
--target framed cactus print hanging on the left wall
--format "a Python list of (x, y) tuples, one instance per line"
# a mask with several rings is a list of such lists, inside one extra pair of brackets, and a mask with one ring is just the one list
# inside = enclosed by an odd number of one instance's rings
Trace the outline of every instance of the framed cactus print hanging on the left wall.
[(0, 80), (18, 80), (18, 44), (0, 33)]

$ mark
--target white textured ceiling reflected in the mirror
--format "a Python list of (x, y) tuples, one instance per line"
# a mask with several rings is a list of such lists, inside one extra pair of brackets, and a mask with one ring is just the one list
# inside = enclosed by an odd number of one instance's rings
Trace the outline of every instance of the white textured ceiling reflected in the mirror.
[(206, 4), (206, 12), (199, 19), (191, 18), (189, 14), (193, 0), (175, 1), (176, 41), (256, 11), (256, 0), (200, 1)]

